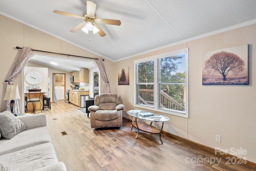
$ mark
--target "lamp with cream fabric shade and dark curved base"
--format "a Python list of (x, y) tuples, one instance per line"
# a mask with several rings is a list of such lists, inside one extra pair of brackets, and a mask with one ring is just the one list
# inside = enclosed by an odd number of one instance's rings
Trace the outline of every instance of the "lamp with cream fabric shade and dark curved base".
[(18, 85), (7, 84), (5, 95), (4, 95), (4, 100), (11, 100), (10, 101), (10, 110), (12, 113), (13, 113), (13, 107), (15, 105), (15, 99), (20, 99)]

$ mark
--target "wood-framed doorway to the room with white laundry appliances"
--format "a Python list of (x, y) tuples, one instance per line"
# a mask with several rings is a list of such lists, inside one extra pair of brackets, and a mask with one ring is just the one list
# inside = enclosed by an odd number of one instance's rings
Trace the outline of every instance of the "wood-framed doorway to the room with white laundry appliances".
[(52, 102), (66, 100), (66, 74), (52, 73)]

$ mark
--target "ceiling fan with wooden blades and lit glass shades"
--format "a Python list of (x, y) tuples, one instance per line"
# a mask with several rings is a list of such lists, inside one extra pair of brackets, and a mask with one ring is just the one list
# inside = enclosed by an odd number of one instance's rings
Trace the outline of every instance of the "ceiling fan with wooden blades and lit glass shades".
[(70, 14), (67, 12), (62, 12), (58, 10), (54, 10), (53, 12), (56, 14), (62, 14), (65, 16), (70, 16), (74, 18), (79, 18), (84, 20), (84, 22), (78, 24), (74, 27), (70, 32), (77, 32), (78, 30), (82, 30), (88, 34), (89, 31), (92, 31), (93, 34), (98, 33), (101, 37), (106, 36), (106, 33), (98, 26), (98, 24), (111, 24), (120, 26), (120, 20), (111, 20), (111, 19), (104, 19), (104, 18), (96, 18), (96, 4), (92, 1), (86, 1), (86, 11), (83, 12), (82, 16), (78, 16), (76, 14)]

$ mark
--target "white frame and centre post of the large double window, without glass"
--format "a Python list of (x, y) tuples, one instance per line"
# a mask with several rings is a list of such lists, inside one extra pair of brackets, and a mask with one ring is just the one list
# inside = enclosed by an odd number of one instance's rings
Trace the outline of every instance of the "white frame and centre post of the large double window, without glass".
[[(175, 55), (179, 55), (179, 54), (185, 54), (185, 61), (186, 61), (186, 79), (185, 79), (185, 85), (186, 85), (186, 94), (185, 94), (185, 100), (186, 100), (186, 105), (185, 105), (185, 111), (177, 111), (177, 110), (169, 110), (169, 109), (164, 109), (164, 108), (158, 108), (159, 104), (160, 104), (160, 89), (158, 88), (158, 84), (159, 84), (159, 64), (158, 64), (158, 59), (163, 58), (163, 57), (167, 57), (167, 56), (175, 56)], [(137, 96), (138, 96), (138, 68), (137, 68), (137, 64), (141, 63), (141, 62), (146, 62), (149, 60), (154, 60), (154, 106), (150, 107), (148, 105), (144, 105), (144, 104), (137, 104)], [(155, 56), (151, 56), (148, 58), (143, 58), (143, 59), (139, 59), (139, 60), (134, 60), (134, 107), (138, 107), (138, 108), (142, 108), (142, 109), (147, 109), (147, 110), (152, 110), (158, 113), (166, 113), (166, 114), (170, 114), (170, 115), (176, 115), (176, 116), (180, 116), (180, 117), (185, 117), (188, 118), (189, 115), (189, 77), (188, 77), (188, 48), (185, 49), (181, 49), (181, 50), (176, 50), (176, 51), (172, 51), (172, 52), (167, 52), (164, 54), (159, 54), (159, 55), (155, 55)]]

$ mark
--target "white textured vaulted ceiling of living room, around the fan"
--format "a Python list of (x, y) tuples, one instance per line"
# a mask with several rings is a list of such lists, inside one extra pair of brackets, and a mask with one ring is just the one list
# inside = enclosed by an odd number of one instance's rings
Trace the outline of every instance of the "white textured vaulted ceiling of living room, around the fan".
[(91, 41), (81, 30), (70, 32), (82, 20), (53, 12), (82, 15), (86, 0), (0, 0), (0, 14), (114, 62), (256, 23), (256, 0), (92, 1), (97, 4), (98, 18), (121, 20), (122, 24), (99, 24), (106, 36), (91, 35)]

